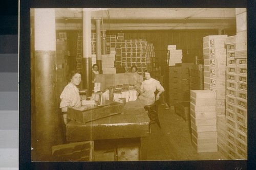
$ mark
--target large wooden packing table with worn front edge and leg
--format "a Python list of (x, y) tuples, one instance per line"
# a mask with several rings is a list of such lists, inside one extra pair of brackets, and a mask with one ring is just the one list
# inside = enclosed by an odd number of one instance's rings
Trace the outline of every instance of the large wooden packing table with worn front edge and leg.
[(140, 138), (140, 160), (146, 160), (146, 139), (150, 118), (139, 99), (126, 103), (123, 113), (104, 117), (86, 124), (71, 121), (66, 127), (69, 142), (102, 139)]

